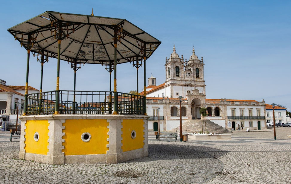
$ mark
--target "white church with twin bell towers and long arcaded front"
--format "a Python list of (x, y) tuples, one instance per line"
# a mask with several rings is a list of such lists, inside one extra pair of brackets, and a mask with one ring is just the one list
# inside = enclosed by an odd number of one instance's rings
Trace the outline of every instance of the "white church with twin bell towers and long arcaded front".
[[(193, 124), (200, 120), (199, 110), (205, 107), (208, 116), (204, 117), (228, 130), (237, 130), (243, 125), (245, 129), (266, 129), (266, 108), (264, 99), (234, 100), (234, 99), (209, 99), (206, 98), (204, 80), (204, 61), (195, 54), (194, 48), (189, 60), (184, 60), (173, 53), (165, 61), (166, 81), (156, 84), (156, 78), (148, 78), (146, 87), (147, 115), (149, 131), (158, 131), (158, 112), (160, 112), (160, 131), (175, 130), (180, 125), (180, 100), (182, 96), (182, 127), (183, 124)], [(140, 95), (144, 95), (141, 92)], [(201, 121), (201, 120), (200, 120)], [(200, 123), (201, 124), (201, 123)], [(184, 130), (183, 130), (184, 132)]]

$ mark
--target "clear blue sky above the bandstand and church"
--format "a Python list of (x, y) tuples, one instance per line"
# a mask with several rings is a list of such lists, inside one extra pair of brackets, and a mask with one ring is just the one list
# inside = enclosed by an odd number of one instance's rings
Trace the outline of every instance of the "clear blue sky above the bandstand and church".
[[(165, 58), (173, 43), (189, 59), (192, 45), (203, 56), (207, 98), (253, 99), (287, 105), (291, 111), (291, 1), (3, 1), (0, 7), (1, 79), (24, 85), (26, 50), (7, 29), (47, 10), (127, 19), (162, 44), (147, 60), (157, 84), (165, 81)], [(31, 56), (29, 85), (39, 89), (40, 63)], [(60, 89), (73, 89), (74, 71), (60, 66)], [(143, 69), (139, 91), (143, 87)], [(43, 90), (55, 89), (57, 63), (44, 65)], [(136, 69), (118, 65), (117, 90), (136, 88)], [(103, 66), (77, 71), (77, 90), (109, 90)]]

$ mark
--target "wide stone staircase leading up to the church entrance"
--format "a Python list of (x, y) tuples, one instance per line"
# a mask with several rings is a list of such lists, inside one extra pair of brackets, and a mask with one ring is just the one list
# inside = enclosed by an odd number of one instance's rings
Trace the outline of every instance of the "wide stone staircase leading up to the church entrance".
[[(210, 120), (204, 120), (206, 122), (206, 130), (209, 132), (214, 132), (214, 133), (231, 133), (230, 130), (223, 128), (222, 126), (214, 123), (213, 121)], [(182, 131), (183, 133), (196, 133), (200, 132), (202, 130), (202, 120), (188, 120), (182, 123)], [(204, 127), (204, 125), (203, 125)], [(176, 128), (174, 128), (172, 131), (176, 131)], [(179, 131), (179, 130), (178, 130)]]

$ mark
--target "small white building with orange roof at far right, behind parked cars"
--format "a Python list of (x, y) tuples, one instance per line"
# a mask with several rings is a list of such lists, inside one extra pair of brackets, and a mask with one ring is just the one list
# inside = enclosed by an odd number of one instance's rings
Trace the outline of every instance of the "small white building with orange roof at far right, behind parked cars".
[[(287, 108), (275, 106), (275, 123), (289, 123), (290, 117), (286, 115)], [(267, 122), (274, 122), (273, 119), (273, 107), (270, 104), (266, 104), (266, 120)]]

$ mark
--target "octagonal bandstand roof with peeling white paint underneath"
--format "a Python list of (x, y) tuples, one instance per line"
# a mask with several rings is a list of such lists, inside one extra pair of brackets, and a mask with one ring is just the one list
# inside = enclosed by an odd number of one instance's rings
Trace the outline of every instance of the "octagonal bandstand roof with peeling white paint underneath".
[(44, 51), (45, 55), (57, 58), (59, 29), (62, 40), (60, 59), (71, 63), (77, 60), (80, 64), (112, 64), (115, 31), (118, 38), (117, 64), (134, 61), (137, 56), (141, 60), (144, 50), (148, 58), (161, 44), (126, 19), (52, 11), (13, 26), (8, 31), (26, 49), (30, 35), (30, 51), (33, 54)]

